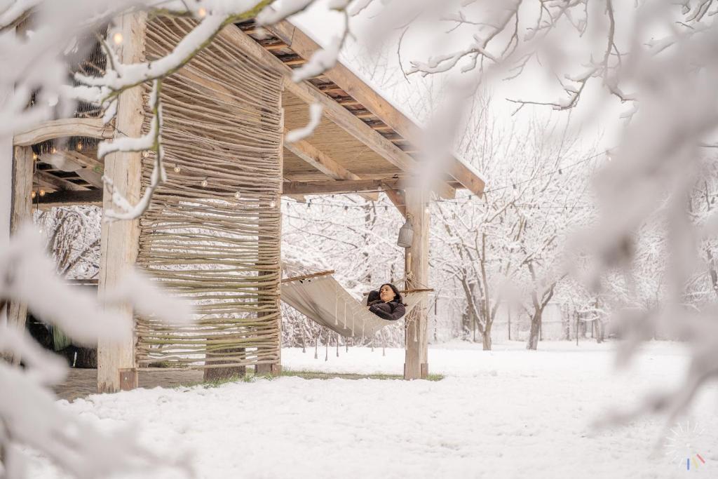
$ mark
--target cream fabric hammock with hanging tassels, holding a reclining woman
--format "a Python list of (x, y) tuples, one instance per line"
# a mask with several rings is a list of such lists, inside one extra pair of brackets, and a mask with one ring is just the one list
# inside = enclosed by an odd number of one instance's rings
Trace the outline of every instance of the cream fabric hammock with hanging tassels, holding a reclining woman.
[[(286, 280), (285, 280), (286, 281)], [(406, 317), (426, 292), (409, 292), (404, 296)], [(331, 275), (297, 279), (281, 284), (281, 300), (310, 320), (348, 338), (372, 336), (382, 327), (396, 324), (383, 320), (349, 294)]]

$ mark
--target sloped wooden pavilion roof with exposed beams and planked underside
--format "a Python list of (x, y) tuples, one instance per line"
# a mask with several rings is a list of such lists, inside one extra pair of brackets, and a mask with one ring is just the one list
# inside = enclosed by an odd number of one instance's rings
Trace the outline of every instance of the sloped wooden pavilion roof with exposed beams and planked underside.
[[(264, 32), (252, 20), (230, 25), (220, 37), (266, 68), (291, 75), (320, 47), (289, 22), (280, 22)], [(401, 111), (370, 88), (342, 64), (302, 83), (286, 81), (282, 95), (285, 129), (307, 124), (309, 103), (320, 103), (322, 121), (312, 136), (285, 144), (284, 194), (306, 195), (329, 192), (360, 192), (376, 200), (383, 190), (404, 212), (402, 187), (416, 169), (416, 147), (420, 129)], [(70, 118), (50, 121), (15, 136), (14, 144), (34, 144), (52, 138), (70, 138), (57, 152), (65, 160), (83, 167), (62, 171), (45, 162), (47, 145), (37, 166), (36, 192), (47, 192), (38, 203), (101, 203), (103, 164), (96, 158), (95, 141), (112, 137), (111, 127), (99, 118)], [(80, 138), (78, 138), (80, 137)], [(83, 138), (81, 137), (88, 137)], [(78, 142), (85, 144), (78, 149)], [(39, 151), (39, 150), (38, 150)], [(484, 181), (462, 159), (452, 157), (437, 192), (453, 197), (465, 187), (481, 195)]]

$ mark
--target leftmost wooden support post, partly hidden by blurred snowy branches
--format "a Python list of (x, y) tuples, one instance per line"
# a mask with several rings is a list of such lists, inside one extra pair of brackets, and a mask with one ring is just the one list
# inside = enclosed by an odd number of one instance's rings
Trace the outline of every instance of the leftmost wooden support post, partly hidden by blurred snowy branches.
[[(12, 158), (12, 197), (10, 210), (10, 235), (26, 221), (32, 221), (32, 169), (34, 167), (31, 147), (14, 147)], [(27, 304), (11, 302), (7, 313), (8, 327), (24, 330)], [(13, 356), (13, 364), (20, 358)]]

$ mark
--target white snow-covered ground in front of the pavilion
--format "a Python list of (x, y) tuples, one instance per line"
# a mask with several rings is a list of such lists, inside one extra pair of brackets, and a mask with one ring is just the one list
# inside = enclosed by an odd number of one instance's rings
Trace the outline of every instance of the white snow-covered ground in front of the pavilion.
[[(62, 406), (103, 428), (137, 424), (148, 447), (194, 455), (200, 478), (679, 478), (653, 445), (661, 417), (592, 430), (602, 411), (625, 408), (656, 389), (680, 387), (687, 357), (677, 343), (650, 343), (625, 373), (614, 344), (542, 342), (432, 346), (442, 381), (378, 379), (228, 383), (217, 388), (136, 390)], [(320, 348), (282, 352), (285, 368), (401, 373), (404, 350)], [(697, 398), (691, 429), (706, 461), (689, 473), (718, 477), (716, 386)], [(673, 426), (673, 424), (671, 424)], [(668, 432), (668, 435), (673, 433)], [(679, 458), (681, 460), (681, 458)], [(59, 477), (37, 460), (32, 478)], [(153, 476), (155, 479), (159, 476)], [(170, 476), (172, 477), (172, 476)]]

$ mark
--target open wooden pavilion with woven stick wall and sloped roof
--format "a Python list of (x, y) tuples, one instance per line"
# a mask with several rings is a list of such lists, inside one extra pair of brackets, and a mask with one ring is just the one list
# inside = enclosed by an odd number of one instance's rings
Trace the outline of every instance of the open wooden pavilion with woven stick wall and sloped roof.
[[(141, 14), (123, 17), (121, 60), (165, 55), (194, 25), (156, 18), (148, 27)], [(169, 179), (141, 220), (103, 222), (99, 284), (101, 291), (113, 287), (137, 264), (172, 294), (192, 299), (200, 317), (195, 327), (134, 317), (130, 343), (98, 345), (99, 391), (135, 387), (138, 373), (158, 365), (205, 368), (205, 377), (243, 373), (251, 365), (258, 373), (279, 371), (281, 195), (357, 192), (376, 200), (385, 192), (412, 220), (410, 282), (429, 283), (429, 192), (407, 186), (418, 161), (419, 129), (344, 65), (293, 83), (292, 69), (319, 47), (289, 22), (268, 32), (253, 21), (230, 25), (164, 80)], [(137, 200), (149, 182), (151, 152), (100, 161), (96, 145), (146, 131), (147, 94), (146, 87), (123, 93), (108, 126), (85, 112), (17, 134), (11, 228), (30, 217), (33, 203), (111, 208), (102, 175)], [(284, 131), (307, 124), (307, 105), (314, 102), (323, 116), (312, 136), (284, 143)], [(437, 194), (452, 198), (466, 188), (481, 195), (483, 187), (476, 172), (452, 158)], [(133, 316), (129, 308), (123, 314)], [(22, 325), (25, 315), (24, 305), (11, 305), (11, 323)], [(418, 340), (406, 342), (404, 376), (426, 377), (426, 311), (408, 328), (407, 338)]]

